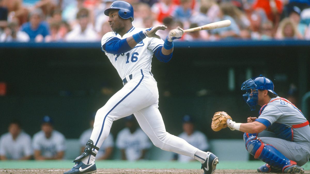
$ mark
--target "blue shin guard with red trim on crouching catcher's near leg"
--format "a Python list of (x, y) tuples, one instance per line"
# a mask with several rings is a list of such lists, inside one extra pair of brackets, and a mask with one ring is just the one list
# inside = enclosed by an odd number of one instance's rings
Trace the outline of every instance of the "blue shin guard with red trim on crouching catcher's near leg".
[(255, 159), (262, 160), (273, 167), (283, 169), (285, 166), (287, 167), (288, 165), (296, 164), (296, 162), (286, 158), (275, 147), (269, 144), (264, 144), (255, 136), (250, 136), (246, 139), (246, 150), (254, 155)]

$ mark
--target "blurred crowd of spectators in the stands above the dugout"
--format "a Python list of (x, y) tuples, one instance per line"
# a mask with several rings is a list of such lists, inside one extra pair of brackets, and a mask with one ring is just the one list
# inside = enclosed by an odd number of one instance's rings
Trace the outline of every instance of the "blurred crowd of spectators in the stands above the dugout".
[[(0, 0), (0, 42), (92, 42), (111, 31), (104, 10), (114, 0)], [(158, 31), (231, 20), (225, 28), (185, 33), (178, 41), (310, 40), (309, 0), (126, 0), (133, 25)]]

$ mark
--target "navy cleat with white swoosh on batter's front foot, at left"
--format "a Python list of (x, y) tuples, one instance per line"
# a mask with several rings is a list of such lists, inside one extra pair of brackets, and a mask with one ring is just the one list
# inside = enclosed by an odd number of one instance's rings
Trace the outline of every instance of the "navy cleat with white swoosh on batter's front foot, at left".
[(91, 164), (84, 164), (82, 161), (76, 162), (73, 168), (64, 174), (87, 174), (97, 172), (95, 162)]

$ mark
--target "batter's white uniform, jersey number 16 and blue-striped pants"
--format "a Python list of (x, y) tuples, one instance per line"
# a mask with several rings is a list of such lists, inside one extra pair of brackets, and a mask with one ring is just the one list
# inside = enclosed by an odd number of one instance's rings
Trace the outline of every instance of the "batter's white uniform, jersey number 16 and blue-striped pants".
[(105, 44), (115, 37), (126, 39), (145, 30), (132, 27), (123, 37), (115, 32), (108, 32), (102, 37), (102, 50), (123, 79), (124, 87), (97, 111), (90, 139), (100, 148), (104, 139), (108, 137), (113, 121), (134, 114), (140, 127), (155, 146), (193, 158), (198, 149), (182, 138), (167, 133), (158, 110), (159, 95), (157, 82), (151, 73), (151, 63), (153, 52), (163, 46), (164, 41), (146, 37), (134, 48), (121, 54), (112, 54), (104, 50)]

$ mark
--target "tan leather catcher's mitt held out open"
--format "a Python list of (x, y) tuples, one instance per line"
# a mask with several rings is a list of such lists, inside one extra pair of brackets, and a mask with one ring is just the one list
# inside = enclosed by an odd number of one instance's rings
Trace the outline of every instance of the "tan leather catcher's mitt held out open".
[(219, 111), (215, 112), (212, 118), (211, 128), (214, 131), (219, 131), (222, 128), (227, 127), (227, 119), (232, 119), (226, 112)]

